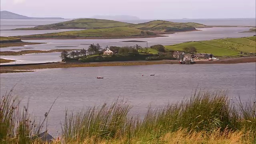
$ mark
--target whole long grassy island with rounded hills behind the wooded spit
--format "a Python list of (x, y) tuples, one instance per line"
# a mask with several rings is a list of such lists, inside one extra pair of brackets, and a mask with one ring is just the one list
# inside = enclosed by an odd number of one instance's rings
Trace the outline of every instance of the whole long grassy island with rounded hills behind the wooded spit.
[(28, 36), (16, 36), (22, 39), (49, 39), (49, 38), (146, 38), (158, 37), (158, 34), (170, 34), (174, 32), (194, 31), (196, 28), (206, 27), (203, 24), (188, 22), (176, 23), (164, 20), (154, 20), (140, 24), (130, 24), (113, 20), (100, 20), (82, 18), (68, 22), (36, 26), (34, 28), (22, 28), (16, 30), (45, 30), (45, 29), (86, 29), (69, 32), (57, 32), (50, 34), (35, 34)]

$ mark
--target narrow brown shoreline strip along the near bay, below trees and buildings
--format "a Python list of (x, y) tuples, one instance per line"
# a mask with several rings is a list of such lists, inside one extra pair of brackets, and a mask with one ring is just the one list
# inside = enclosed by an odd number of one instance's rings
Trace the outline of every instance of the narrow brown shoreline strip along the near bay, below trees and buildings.
[[(256, 62), (256, 57), (227, 58), (223, 60), (198, 60), (195, 64), (239, 64)], [(30, 64), (23, 66), (0, 65), (0, 73), (24, 72), (24, 70), (39, 70), (46, 68), (76, 68), (76, 67), (97, 67), (97, 66), (136, 66), (153, 64), (179, 64), (178, 60), (160, 60), (160, 61), (126, 61), (126, 62), (93, 62), (93, 63), (53, 63), (53, 64)], [(17, 71), (23, 70), (23, 71)]]

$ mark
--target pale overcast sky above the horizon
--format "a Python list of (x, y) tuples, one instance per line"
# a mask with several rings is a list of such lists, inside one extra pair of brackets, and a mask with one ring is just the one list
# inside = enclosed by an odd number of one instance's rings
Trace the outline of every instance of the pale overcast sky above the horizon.
[(31, 17), (141, 19), (255, 18), (256, 0), (0, 0), (1, 10)]

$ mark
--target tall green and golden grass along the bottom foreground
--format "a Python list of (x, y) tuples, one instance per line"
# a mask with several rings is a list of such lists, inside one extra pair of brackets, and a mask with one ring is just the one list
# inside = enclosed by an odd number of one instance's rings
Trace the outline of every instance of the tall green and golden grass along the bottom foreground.
[[(28, 106), (9, 94), (0, 98), (0, 142), (41, 144), (46, 122), (29, 117)], [(256, 100), (256, 99), (255, 99)], [(256, 104), (233, 104), (226, 92), (198, 92), (159, 109), (149, 108), (141, 119), (129, 116), (122, 100), (111, 105), (64, 114), (60, 141), (65, 144), (250, 144), (256, 142)], [(55, 141), (54, 143), (60, 143)]]

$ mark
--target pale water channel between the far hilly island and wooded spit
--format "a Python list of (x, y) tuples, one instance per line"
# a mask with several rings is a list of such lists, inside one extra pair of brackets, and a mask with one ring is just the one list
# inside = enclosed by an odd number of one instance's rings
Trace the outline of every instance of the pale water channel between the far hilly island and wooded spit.
[[(46, 44), (36, 44), (27, 46), (16, 46), (1, 48), (0, 51), (20, 51), (20, 48), (32, 48), (22, 50), (53, 50), (53, 49), (88, 49), (89, 44), (99, 43), (102, 48), (105, 46), (133, 46), (139, 44), (142, 47), (152, 46), (155, 44), (172, 45), (188, 41), (199, 40), (212, 40), (217, 38), (239, 38), (244, 36), (253, 36), (255, 33), (241, 33), (241, 31), (249, 30), (247, 27), (231, 27), (231, 28), (200, 28), (200, 31), (194, 32), (179, 32), (176, 34), (168, 34), (167, 37), (157, 38), (130, 38), (130, 39), (80, 39), (80, 40), (23, 40), (25, 42), (44, 42)], [(6, 32), (6, 31), (1, 31)], [(12, 31), (16, 32), (16, 31)], [(27, 32), (27, 31), (22, 31)], [(140, 40), (146, 42), (134, 43), (134, 42), (122, 42), (127, 40)], [(85, 45), (84, 45), (85, 44)], [(76, 46), (76, 47), (57, 47), (57, 46)], [(18, 49), (17, 49), (18, 48)], [(38, 55), (39, 56), (39, 55)], [(24, 56), (1, 56), (1, 58), (8, 58), (18, 60), (16, 63), (36, 63), (36, 62), (52, 62), (54, 60), (60, 61), (60, 55), (57, 53), (50, 54), (44, 53), (40, 55), (39, 59), (35, 54), (26, 54)], [(42, 58), (42, 59), (41, 59)]]

